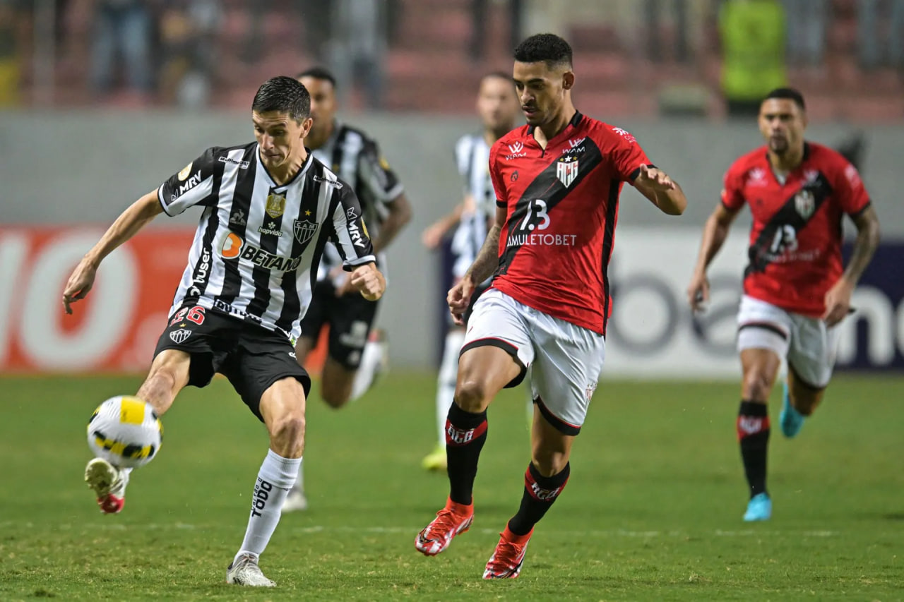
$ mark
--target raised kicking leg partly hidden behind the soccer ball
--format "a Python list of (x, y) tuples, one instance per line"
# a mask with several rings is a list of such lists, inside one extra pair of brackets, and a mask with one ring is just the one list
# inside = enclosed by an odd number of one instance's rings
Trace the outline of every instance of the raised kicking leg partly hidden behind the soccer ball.
[[(157, 416), (162, 416), (188, 383), (190, 364), (191, 356), (184, 351), (166, 349), (158, 353), (136, 397), (151, 404)], [(101, 457), (91, 459), (85, 466), (85, 483), (94, 492), (100, 512), (116, 514), (122, 510), (131, 472), (131, 468), (113, 466)]]

